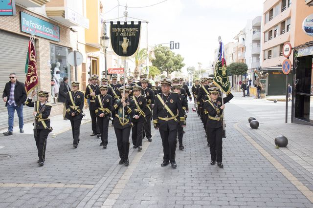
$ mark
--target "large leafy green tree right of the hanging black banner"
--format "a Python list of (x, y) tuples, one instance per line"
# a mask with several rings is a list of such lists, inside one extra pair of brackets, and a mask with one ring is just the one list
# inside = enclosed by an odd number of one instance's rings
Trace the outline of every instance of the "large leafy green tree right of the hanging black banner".
[(169, 47), (157, 46), (154, 49), (155, 58), (151, 60), (152, 64), (160, 70), (161, 73), (166, 72), (167, 77), (174, 72), (180, 71), (185, 65), (184, 58), (180, 54), (175, 54)]

